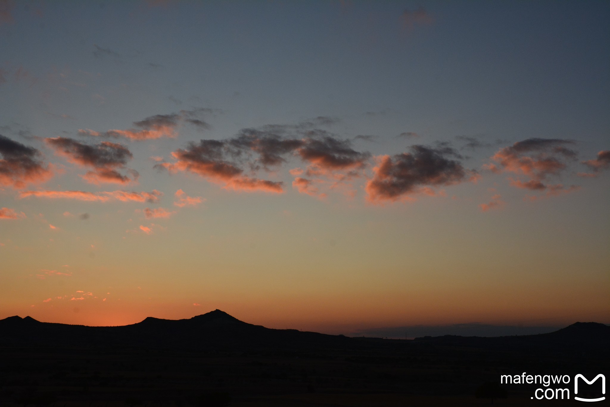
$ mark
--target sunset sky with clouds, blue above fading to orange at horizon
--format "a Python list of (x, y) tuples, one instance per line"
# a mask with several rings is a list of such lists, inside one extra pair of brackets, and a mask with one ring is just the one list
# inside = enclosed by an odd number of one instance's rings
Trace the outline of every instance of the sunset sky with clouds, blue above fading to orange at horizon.
[(1, 0), (0, 319), (610, 323), (609, 20)]

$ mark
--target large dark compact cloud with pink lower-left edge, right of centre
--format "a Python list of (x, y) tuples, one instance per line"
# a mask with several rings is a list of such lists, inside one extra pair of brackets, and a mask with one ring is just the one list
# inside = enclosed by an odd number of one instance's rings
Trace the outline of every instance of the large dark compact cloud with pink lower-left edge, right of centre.
[[(447, 155), (456, 154), (444, 148), (411, 146), (410, 153), (378, 156), (373, 178), (367, 182), (367, 200), (371, 203), (408, 200), (411, 195), (426, 192), (425, 187), (459, 184), (475, 173)], [(431, 190), (428, 190), (428, 193)]]

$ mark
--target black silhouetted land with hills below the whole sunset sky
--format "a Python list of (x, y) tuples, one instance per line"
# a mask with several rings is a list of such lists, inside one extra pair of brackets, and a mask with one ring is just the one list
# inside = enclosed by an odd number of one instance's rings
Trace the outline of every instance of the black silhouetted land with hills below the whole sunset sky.
[[(500, 375), (610, 377), (609, 345), (610, 326), (599, 323), (391, 340), (271, 330), (219, 310), (115, 327), (10, 317), (0, 320), (0, 406), (489, 405), (476, 390)], [(572, 393), (532, 399), (540, 384), (501, 387), (508, 398), (494, 405), (582, 404)]]

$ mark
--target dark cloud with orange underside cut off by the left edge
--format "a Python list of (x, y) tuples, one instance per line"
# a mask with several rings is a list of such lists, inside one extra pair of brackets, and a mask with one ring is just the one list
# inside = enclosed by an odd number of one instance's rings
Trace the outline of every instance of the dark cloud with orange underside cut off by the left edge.
[(1, 134), (0, 155), (0, 185), (22, 189), (27, 184), (45, 182), (53, 176), (52, 167), (44, 166), (37, 149)]

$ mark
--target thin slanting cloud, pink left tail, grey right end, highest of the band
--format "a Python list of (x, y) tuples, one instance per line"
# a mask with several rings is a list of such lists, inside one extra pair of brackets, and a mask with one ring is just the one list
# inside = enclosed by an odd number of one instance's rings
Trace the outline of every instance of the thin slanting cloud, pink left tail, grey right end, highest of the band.
[(193, 109), (180, 110), (179, 113), (170, 113), (167, 115), (153, 115), (144, 120), (134, 121), (135, 128), (125, 130), (109, 130), (106, 132), (98, 132), (90, 129), (79, 129), (80, 135), (91, 135), (94, 137), (125, 137), (131, 140), (154, 140), (161, 137), (174, 138), (178, 136), (176, 132), (178, 126), (182, 123), (189, 123), (199, 129), (209, 129), (210, 125), (199, 117), (204, 113), (212, 113), (216, 110), (212, 109)]

